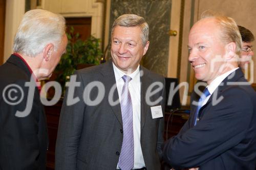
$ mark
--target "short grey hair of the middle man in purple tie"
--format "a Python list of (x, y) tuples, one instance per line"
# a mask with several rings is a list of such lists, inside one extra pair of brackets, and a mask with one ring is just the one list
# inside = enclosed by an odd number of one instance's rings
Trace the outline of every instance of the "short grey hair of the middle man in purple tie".
[(146, 42), (148, 41), (148, 34), (150, 32), (150, 28), (148, 27), (148, 24), (143, 17), (135, 14), (123, 14), (119, 16), (112, 25), (111, 38), (113, 36), (113, 31), (117, 26), (121, 26), (121, 27), (137, 27), (138, 26), (142, 32), (142, 35), (141, 35), (142, 43), (144, 46), (146, 45)]

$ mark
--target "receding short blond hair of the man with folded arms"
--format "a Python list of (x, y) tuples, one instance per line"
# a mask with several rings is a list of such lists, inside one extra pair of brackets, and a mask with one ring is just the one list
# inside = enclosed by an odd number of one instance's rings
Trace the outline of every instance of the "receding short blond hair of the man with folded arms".
[(201, 19), (209, 17), (215, 18), (215, 21), (221, 31), (221, 40), (224, 41), (224, 43), (236, 43), (236, 54), (240, 56), (242, 49), (242, 38), (236, 21), (234, 21), (234, 19), (231, 17), (224, 16), (221, 13), (211, 10), (204, 11), (201, 15)]

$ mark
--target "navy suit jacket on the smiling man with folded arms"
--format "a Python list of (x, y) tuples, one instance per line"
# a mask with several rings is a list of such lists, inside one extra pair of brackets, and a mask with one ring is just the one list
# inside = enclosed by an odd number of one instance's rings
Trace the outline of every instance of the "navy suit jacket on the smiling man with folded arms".
[(195, 127), (197, 106), (191, 105), (190, 118), (165, 144), (169, 164), (174, 168), (199, 166), (201, 170), (255, 169), (256, 93), (249, 84), (241, 84), (245, 82), (241, 69), (223, 80), (200, 109)]

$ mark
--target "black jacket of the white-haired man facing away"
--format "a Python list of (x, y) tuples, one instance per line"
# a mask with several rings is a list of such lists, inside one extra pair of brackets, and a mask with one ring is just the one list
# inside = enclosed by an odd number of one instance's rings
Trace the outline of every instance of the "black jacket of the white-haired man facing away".
[[(26, 64), (15, 55), (0, 66), (0, 169), (3, 170), (46, 169), (46, 118), (36, 87), (34, 98), (28, 100), (29, 88), (25, 83), (30, 82), (30, 77)], [(10, 84), (15, 84), (20, 90), (6, 88)], [(20, 91), (23, 91), (23, 98)], [(16, 102), (22, 100), (16, 105), (6, 103), (6, 100), (10, 102), (15, 98)], [(30, 114), (26, 117), (15, 116), (16, 111), (25, 110), (27, 102), (32, 103)]]

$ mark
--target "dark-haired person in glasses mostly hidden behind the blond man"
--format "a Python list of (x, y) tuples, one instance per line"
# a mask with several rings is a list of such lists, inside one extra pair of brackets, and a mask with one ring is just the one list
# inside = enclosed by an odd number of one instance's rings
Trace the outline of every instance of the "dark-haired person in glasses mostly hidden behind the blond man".
[(254, 36), (250, 30), (242, 26), (238, 26), (238, 28), (242, 37), (242, 53), (239, 67), (245, 70), (247, 69), (249, 62), (254, 55), (252, 50), (252, 42), (254, 41)]

